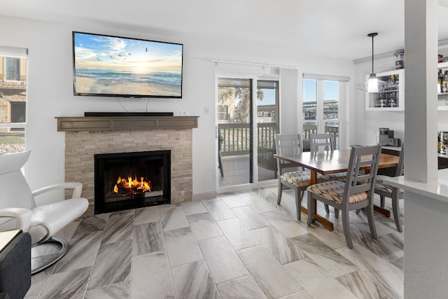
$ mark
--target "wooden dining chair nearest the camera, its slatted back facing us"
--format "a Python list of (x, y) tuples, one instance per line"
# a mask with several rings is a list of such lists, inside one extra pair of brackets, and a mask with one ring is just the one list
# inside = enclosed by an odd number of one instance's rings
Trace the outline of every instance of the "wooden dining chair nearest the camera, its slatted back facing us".
[[(316, 183), (307, 188), (308, 192), (308, 222), (311, 226), (316, 213), (314, 200), (335, 207), (335, 217), (338, 218), (339, 210), (342, 211), (342, 226), (347, 246), (353, 248), (351, 241), (349, 211), (367, 208), (367, 221), (372, 238), (377, 238), (377, 230), (374, 225), (373, 216), (373, 192), (374, 183), (378, 171), (379, 155), (381, 146), (355, 146), (351, 148), (349, 166), (347, 168), (346, 181), (326, 181)], [(360, 172), (363, 168), (370, 169), (369, 172)]]

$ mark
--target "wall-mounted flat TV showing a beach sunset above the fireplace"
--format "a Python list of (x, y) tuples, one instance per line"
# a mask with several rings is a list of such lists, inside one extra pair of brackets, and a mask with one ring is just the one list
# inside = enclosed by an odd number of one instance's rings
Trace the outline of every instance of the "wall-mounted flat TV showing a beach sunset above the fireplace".
[(183, 45), (73, 32), (74, 95), (182, 97)]

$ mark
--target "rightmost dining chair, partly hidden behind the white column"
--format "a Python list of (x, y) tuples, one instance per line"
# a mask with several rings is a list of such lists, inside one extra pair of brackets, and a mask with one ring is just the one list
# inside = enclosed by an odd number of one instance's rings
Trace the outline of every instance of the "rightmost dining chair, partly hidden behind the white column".
[[(400, 158), (398, 158), (397, 170), (395, 176), (402, 176), (405, 173), (405, 144), (401, 145)], [(378, 175), (377, 182), (375, 183), (374, 193), (379, 195), (380, 206), (384, 208), (385, 197), (390, 197), (392, 200), (392, 212), (393, 219), (395, 220), (395, 226), (399, 232), (402, 232), (402, 221), (400, 219), (400, 204), (399, 200), (405, 197), (405, 191), (401, 188), (396, 188), (386, 183), (383, 183), (384, 179), (390, 176)]]

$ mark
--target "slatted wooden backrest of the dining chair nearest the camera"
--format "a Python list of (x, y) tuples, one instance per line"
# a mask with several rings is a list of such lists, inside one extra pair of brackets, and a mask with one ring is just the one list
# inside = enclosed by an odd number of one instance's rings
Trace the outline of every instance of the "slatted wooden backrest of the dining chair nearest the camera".
[[(349, 198), (356, 193), (367, 192), (373, 198), (374, 183), (377, 177), (381, 145), (353, 146), (345, 181), (344, 196)], [(368, 169), (363, 172), (362, 170)], [(347, 202), (347, 201), (346, 201)]]

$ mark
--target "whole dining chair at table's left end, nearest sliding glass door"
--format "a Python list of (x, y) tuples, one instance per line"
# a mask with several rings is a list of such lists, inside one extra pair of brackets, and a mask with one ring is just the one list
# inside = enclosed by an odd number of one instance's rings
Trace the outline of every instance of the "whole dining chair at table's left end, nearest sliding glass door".
[[(302, 139), (300, 138), (300, 134), (275, 134), (274, 139), (275, 150), (278, 155), (300, 155), (302, 153)], [(294, 170), (286, 171), (288, 169)], [(277, 204), (281, 202), (283, 188), (293, 189), (295, 192), (297, 220), (300, 221), (303, 193), (311, 185), (311, 173), (281, 159), (277, 159), (277, 171), (279, 172)], [(322, 182), (326, 180), (322, 174), (318, 174), (317, 181)]]

